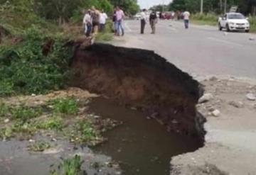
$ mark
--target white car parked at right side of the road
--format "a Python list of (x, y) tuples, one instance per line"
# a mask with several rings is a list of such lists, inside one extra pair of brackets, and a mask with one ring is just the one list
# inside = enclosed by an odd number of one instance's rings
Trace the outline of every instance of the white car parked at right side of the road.
[(226, 13), (225, 16), (218, 20), (219, 30), (225, 28), (227, 31), (244, 30), (250, 31), (250, 23), (241, 13)]

